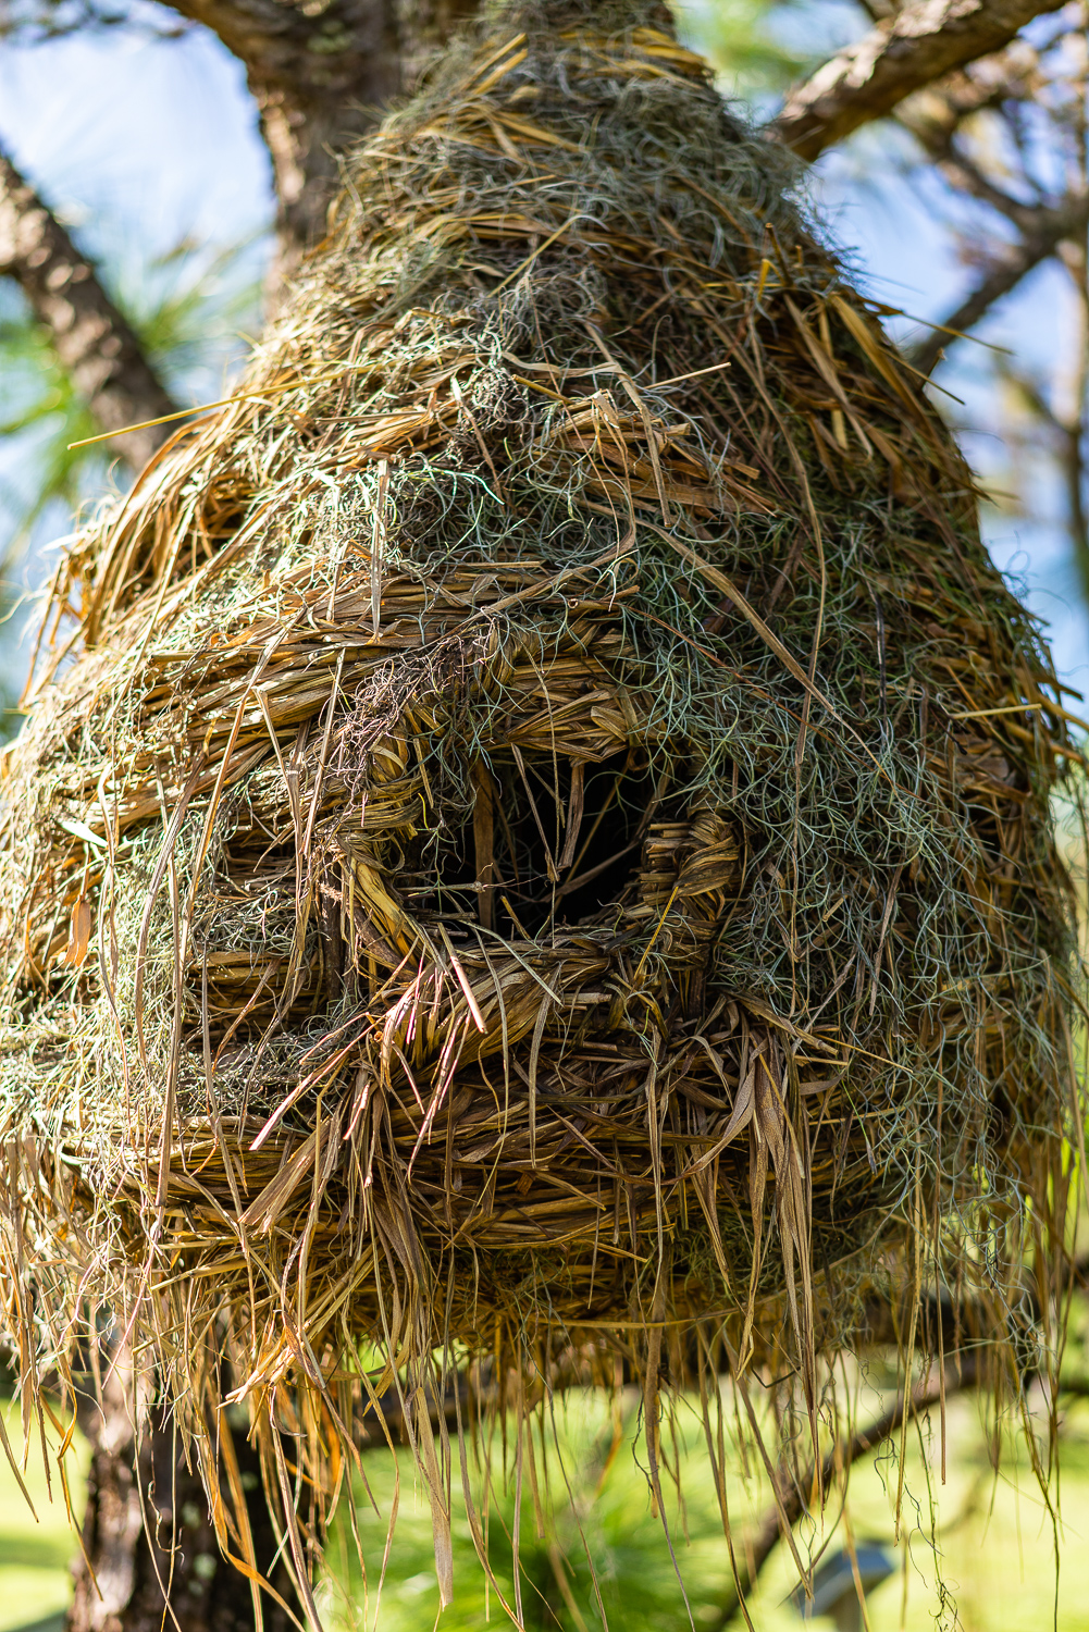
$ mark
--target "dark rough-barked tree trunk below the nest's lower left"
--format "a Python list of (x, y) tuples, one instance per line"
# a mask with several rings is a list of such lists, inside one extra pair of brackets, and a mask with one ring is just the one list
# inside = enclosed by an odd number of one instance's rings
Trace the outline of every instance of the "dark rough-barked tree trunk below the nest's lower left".
[[(83, 1399), (78, 1415), (91, 1466), (67, 1632), (253, 1632), (250, 1583), (219, 1552), (204, 1487), (196, 1467), (186, 1467), (168, 1415), (153, 1405), (137, 1433), (124, 1358), (109, 1373), (101, 1405)], [(291, 1577), (278, 1562), (258, 1456), (242, 1436), (235, 1452), (258, 1570), (302, 1622)], [(291, 1629), (268, 1594), (263, 1619), (266, 1632)]]

